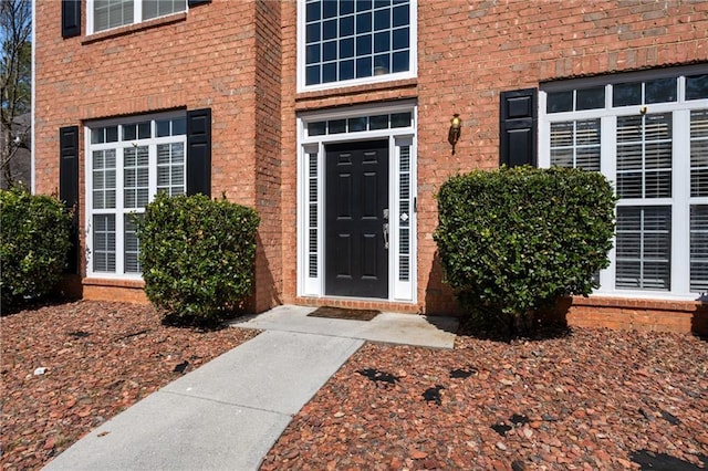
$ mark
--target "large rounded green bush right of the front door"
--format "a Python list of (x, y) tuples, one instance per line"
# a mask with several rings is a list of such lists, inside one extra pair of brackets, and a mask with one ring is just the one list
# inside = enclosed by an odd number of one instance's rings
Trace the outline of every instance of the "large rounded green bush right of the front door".
[(559, 296), (590, 294), (610, 263), (615, 197), (598, 172), (478, 170), (437, 198), (446, 281), (470, 313), (506, 320), (512, 334)]

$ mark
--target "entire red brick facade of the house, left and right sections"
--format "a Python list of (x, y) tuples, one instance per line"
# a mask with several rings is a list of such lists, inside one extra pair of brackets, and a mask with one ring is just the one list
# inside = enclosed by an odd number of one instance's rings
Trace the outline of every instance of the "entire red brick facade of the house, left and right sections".
[(708, 2), (419, 0), (417, 14), (417, 78), (298, 94), (295, 1), (215, 0), (123, 34), (62, 40), (60, 2), (39, 0), (37, 188), (56, 192), (60, 126), (211, 107), (212, 193), (263, 218), (253, 307), (310, 302), (296, 296), (296, 113), (415, 98), (418, 304), (391, 308), (455, 313), (435, 260), (434, 195), (451, 175), (498, 166), (501, 92), (708, 61)]

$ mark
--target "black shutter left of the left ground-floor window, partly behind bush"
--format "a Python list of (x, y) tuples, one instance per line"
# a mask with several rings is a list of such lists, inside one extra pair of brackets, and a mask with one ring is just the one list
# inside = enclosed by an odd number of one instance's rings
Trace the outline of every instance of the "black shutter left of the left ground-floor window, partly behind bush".
[(79, 273), (79, 126), (59, 129), (59, 199), (74, 210), (66, 273)]

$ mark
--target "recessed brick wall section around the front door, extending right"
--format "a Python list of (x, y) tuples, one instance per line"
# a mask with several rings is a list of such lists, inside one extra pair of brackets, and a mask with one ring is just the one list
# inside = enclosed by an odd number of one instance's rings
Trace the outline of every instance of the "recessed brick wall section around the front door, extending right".
[[(418, 308), (457, 307), (435, 260), (434, 198), (451, 175), (499, 165), (499, 94), (540, 82), (708, 61), (708, 2), (419, 1), (418, 77), (388, 84), (295, 93), (295, 3), (283, 3), (284, 168), (294, 170), (294, 112), (418, 101)], [(457, 151), (447, 143), (459, 113)], [(294, 254), (295, 172), (283, 172), (283, 250)], [(284, 300), (295, 294), (294, 257), (283, 258)]]

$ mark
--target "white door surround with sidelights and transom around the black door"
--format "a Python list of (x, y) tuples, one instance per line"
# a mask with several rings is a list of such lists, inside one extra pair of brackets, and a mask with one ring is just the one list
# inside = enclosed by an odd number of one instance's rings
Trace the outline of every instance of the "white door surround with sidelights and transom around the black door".
[[(413, 123), (409, 127), (388, 128), (381, 130), (368, 130), (346, 134), (334, 134), (323, 136), (306, 136), (306, 124), (311, 122), (352, 118), (357, 116), (372, 116), (377, 114), (404, 113), (413, 114)], [(347, 111), (303, 113), (298, 116), (298, 296), (304, 297), (337, 297), (327, 296), (324, 290), (324, 216), (325, 201), (323, 178), (324, 171), (324, 146), (332, 143), (346, 143), (356, 140), (388, 139), (389, 171), (388, 171), (388, 201), (389, 201), (389, 241), (388, 250), (388, 299), (360, 299), (346, 297), (347, 300), (365, 301), (389, 301), (400, 303), (417, 303), (417, 214), (415, 211), (415, 198), (417, 196), (417, 138), (416, 123), (417, 106), (412, 101), (400, 102), (388, 106), (361, 106)], [(410, 146), (410, 268), (408, 281), (398, 280), (398, 171), (399, 148)], [(317, 181), (317, 276), (309, 276), (309, 231), (308, 231), (308, 178), (309, 178), (309, 156), (317, 154), (319, 181)]]

